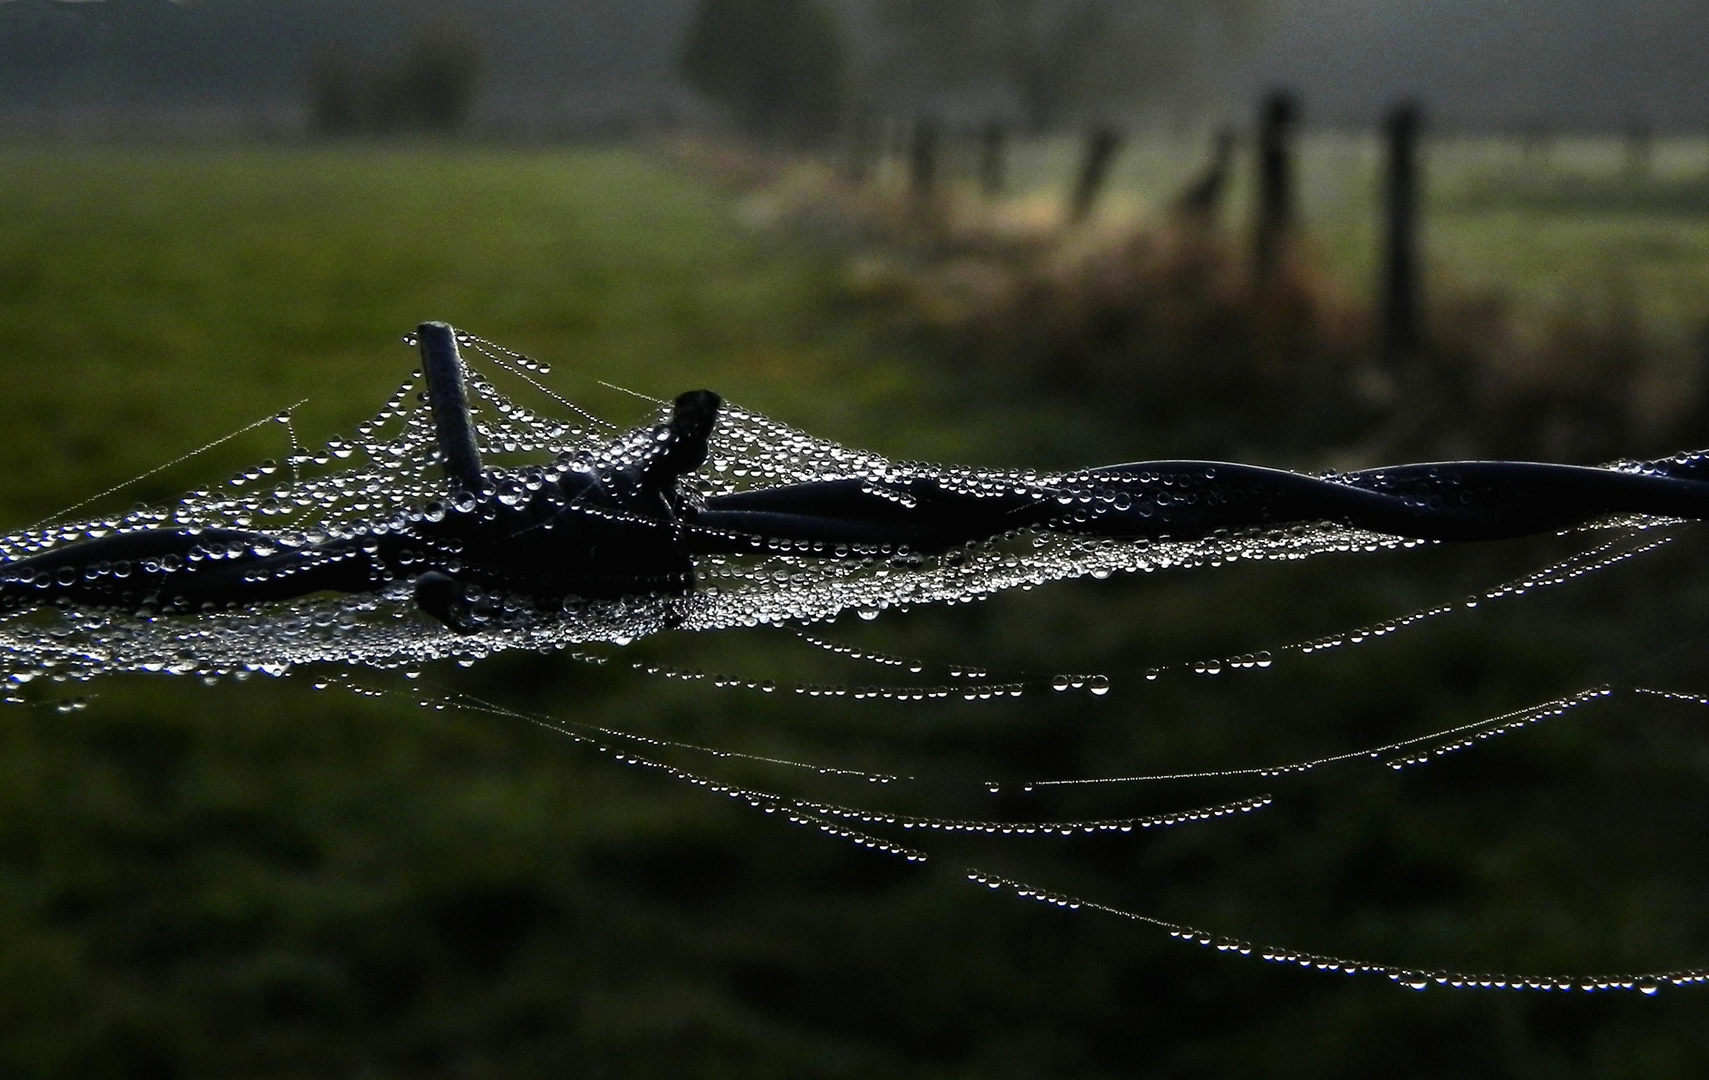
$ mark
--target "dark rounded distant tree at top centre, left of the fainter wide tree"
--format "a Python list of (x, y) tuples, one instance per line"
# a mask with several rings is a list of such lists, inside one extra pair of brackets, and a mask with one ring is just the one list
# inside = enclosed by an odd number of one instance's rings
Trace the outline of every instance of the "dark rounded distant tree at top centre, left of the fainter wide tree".
[(822, 0), (701, 0), (680, 67), (750, 133), (812, 140), (841, 120), (848, 39)]

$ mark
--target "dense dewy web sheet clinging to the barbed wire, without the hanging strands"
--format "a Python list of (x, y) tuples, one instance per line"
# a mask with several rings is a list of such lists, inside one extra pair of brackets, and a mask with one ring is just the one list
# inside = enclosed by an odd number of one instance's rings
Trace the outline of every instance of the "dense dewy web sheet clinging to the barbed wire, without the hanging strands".
[[(538, 383), (545, 366), (521, 354), (460, 335), (477, 357), (468, 373), (475, 437), (484, 456), (569, 461), (612, 456), (615, 427)], [(518, 376), (569, 412), (554, 419), (518, 405), (484, 369)], [(284, 414), (282, 414), (284, 415)], [(285, 417), (289, 419), (289, 417)], [(624, 444), (617, 443), (617, 453)], [(525, 499), (552, 465), (506, 470), (499, 497)], [(894, 463), (880, 455), (813, 437), (761, 414), (730, 405), (719, 414), (706, 467), (684, 478), (699, 497), (807, 480), (861, 480), (866, 490), (906, 501), (904, 477), (930, 477), (948, 490), (990, 494), (1036, 487), (1072, 475)], [(1080, 485), (1077, 506), (1121, 508), (1119, 485)], [(265, 543), (205, 559), (267, 555), (277, 547), (308, 547), (335, 538), (407, 530), (443, 514), (453, 499), (439, 475), (432, 415), (420, 373), (349, 437), (318, 449), (292, 448), (284, 463), (243, 468), (224, 484), (191, 490), (164, 506), (125, 514), (44, 525), (0, 537), (0, 557), (22, 559), (58, 545), (130, 530), (244, 530)], [(467, 497), (467, 496), (465, 496)], [(63, 605), (0, 617), (0, 675), (27, 682), (38, 673), (92, 678), (116, 672), (171, 672), (219, 677), (232, 672), (282, 675), (306, 663), (364, 668), (415, 668), (438, 660), (480, 660), (506, 649), (557, 651), (590, 643), (627, 644), (665, 627), (721, 631), (829, 622), (846, 612), (873, 619), (887, 608), (971, 603), (1017, 588), (1116, 572), (1217, 566), (1239, 559), (1304, 559), (1324, 552), (1413, 547), (1333, 525), (1254, 530), (1203, 540), (1107, 540), (1046, 531), (1015, 533), (945, 555), (884, 550), (846, 557), (822, 543), (767, 540), (743, 555), (697, 561), (689, 596), (627, 596), (569, 603), (542, 615), (511, 603), (490, 629), (453, 634), (415, 610), (408, 581), (374, 595), (308, 596), (253, 610), (205, 612), (197, 619), (152, 617), (97, 607)], [(87, 572), (123, 574), (125, 567)]]

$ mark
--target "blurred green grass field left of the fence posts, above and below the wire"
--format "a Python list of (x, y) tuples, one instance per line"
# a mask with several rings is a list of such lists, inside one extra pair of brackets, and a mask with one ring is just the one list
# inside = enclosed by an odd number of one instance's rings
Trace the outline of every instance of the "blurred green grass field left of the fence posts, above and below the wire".
[[(931, 357), (846, 299), (846, 253), (745, 229), (731, 195), (663, 157), (9, 149), (0, 183), (9, 525), (299, 396), (308, 437), (347, 429), (412, 362), (393, 342), (422, 318), (550, 361), (554, 386), (624, 415), (634, 403), (595, 379), (713, 386), (897, 458), (1017, 453), (1013, 417), (955, 400)], [(120, 501), (277, 451), (263, 429)], [(1543, 538), (1072, 583), (836, 634), (1119, 675), (1463, 596), (1560, 550)], [(1271, 762), (1494, 714), (1634, 660), (1688, 682), (1702, 555), (1692, 535), (1348, 654), (1261, 678), (1118, 680), (1107, 699), (853, 706), (535, 656), (431, 677), (571, 719), (896, 772)], [(877, 678), (757, 632), (620, 656)], [(1687, 1077), (1709, 1059), (1700, 993), (1415, 996), (1230, 960), (986, 897), (952, 866), (906, 868), (391, 689), (403, 701), (296, 677), (111, 680), (63, 689), (94, 694), (80, 713), (0, 713), (0, 1073)], [(875, 800), (866, 784), (723, 767)], [(1302, 948), (1675, 967), (1709, 957), (1706, 779), (1697, 714), (1622, 706), (1398, 779), (1287, 784), (1248, 820), (931, 846)], [(1123, 813), (1220, 793), (890, 798)]]

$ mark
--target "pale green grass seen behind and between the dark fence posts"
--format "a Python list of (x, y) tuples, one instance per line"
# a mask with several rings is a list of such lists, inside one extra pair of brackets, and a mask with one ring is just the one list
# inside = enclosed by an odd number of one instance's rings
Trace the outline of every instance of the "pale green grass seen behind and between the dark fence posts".
[[(1106, 215), (1159, 215), (1203, 169), (1203, 132), (1138, 132), (1113, 166)], [(957, 147), (966, 157), (969, 149)], [(1008, 193), (1061, 200), (1075, 138), (1022, 140)], [(1372, 299), (1383, 149), (1374, 135), (1307, 132), (1297, 140), (1301, 224), (1323, 270)], [(892, 181), (899, 183), (899, 164)], [(972, 176), (972, 161), (952, 173)], [(1646, 328), (1682, 342), (1709, 325), (1709, 140), (1661, 138), (1634, 174), (1620, 138), (1429, 137), (1424, 145), (1424, 251), (1434, 291), (1492, 291), (1521, 318), (1624, 289)], [(1246, 224), (1253, 162), (1242, 144), (1224, 220)]]

